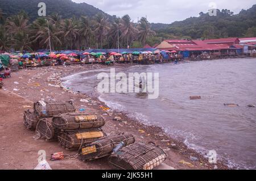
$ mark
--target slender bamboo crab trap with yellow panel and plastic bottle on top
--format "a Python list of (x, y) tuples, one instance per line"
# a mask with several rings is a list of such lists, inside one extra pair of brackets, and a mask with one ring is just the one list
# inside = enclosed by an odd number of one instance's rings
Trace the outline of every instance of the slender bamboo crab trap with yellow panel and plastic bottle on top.
[(134, 144), (135, 138), (132, 134), (119, 134), (102, 138), (81, 148), (79, 150), (80, 158), (82, 161), (92, 161), (106, 157), (112, 154), (113, 149), (121, 142), (124, 143), (124, 146), (131, 145)]

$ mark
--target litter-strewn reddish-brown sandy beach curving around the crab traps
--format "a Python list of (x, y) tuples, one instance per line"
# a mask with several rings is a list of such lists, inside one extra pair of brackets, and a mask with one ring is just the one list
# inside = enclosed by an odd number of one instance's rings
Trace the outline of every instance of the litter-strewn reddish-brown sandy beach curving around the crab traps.
[[(11, 78), (5, 79), (3, 81), (5, 85), (0, 90), (0, 117), (2, 118), (0, 121), (0, 153), (2, 155), (0, 169), (34, 169), (38, 164), (39, 150), (46, 150), (47, 161), (52, 169), (111, 169), (107, 158), (92, 162), (82, 162), (79, 159), (49, 161), (49, 157), (55, 152), (64, 151), (67, 155), (75, 155), (77, 152), (61, 148), (58, 142), (34, 140), (35, 132), (24, 128), (23, 111), (32, 108), (33, 102), (40, 99), (72, 100), (77, 112), (82, 108), (86, 113), (98, 113), (104, 116), (106, 125), (103, 130), (108, 135), (125, 132), (134, 134), (137, 142), (155, 142), (168, 154), (164, 163), (175, 169), (229, 169), (222, 161), (218, 161), (216, 165), (210, 164), (204, 155), (188, 149), (183, 142), (168, 137), (161, 128), (143, 125), (137, 120), (130, 119), (123, 112), (102, 110), (101, 106), (105, 105), (97, 98), (72, 92), (61, 86), (61, 77), (103, 67), (106, 66), (72, 65), (24, 69), (12, 73)], [(81, 99), (88, 102), (81, 102)], [(121, 121), (113, 120), (117, 116), (121, 117)], [(198, 160), (192, 161), (191, 156)]]

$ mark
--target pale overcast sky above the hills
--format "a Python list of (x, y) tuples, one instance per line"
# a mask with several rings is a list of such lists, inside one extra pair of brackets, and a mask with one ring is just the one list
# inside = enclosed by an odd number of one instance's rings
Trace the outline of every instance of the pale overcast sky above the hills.
[(72, 0), (86, 2), (110, 15), (122, 17), (129, 14), (134, 22), (138, 17), (147, 15), (152, 23), (172, 23), (191, 16), (199, 16), (199, 12), (207, 12), (209, 3), (214, 2), (217, 9), (229, 9), (237, 14), (242, 9), (249, 9), (255, 0)]

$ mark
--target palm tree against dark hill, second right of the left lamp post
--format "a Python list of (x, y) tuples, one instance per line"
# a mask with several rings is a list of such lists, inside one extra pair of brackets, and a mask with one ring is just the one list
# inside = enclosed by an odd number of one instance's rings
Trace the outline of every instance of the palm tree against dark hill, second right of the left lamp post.
[(77, 40), (77, 37), (79, 36), (79, 25), (77, 19), (65, 19), (61, 25), (61, 33), (64, 35), (64, 40), (69, 44), (69, 48), (73, 49), (73, 42), (74, 40)]

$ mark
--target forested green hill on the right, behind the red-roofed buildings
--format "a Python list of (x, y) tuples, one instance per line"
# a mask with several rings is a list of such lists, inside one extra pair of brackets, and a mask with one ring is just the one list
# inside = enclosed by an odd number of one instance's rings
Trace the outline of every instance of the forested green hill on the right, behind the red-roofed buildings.
[(200, 12), (199, 17), (191, 17), (169, 24), (152, 24), (159, 37), (179, 38), (219, 38), (256, 36), (256, 5), (234, 15), (230, 10), (217, 10), (217, 16)]

